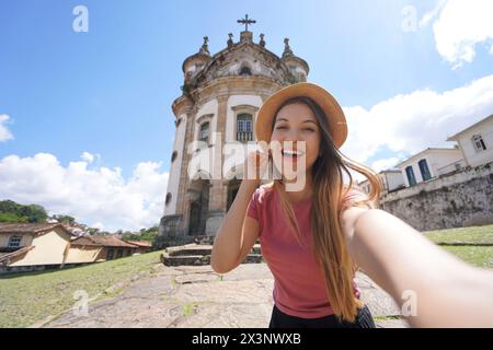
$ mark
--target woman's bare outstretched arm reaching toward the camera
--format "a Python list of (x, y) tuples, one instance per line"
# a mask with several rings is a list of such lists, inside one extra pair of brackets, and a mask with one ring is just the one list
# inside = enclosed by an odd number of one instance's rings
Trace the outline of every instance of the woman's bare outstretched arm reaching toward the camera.
[(352, 207), (342, 224), (354, 261), (411, 311), (403, 313), (411, 326), (493, 327), (493, 271), (459, 260), (383, 210)]

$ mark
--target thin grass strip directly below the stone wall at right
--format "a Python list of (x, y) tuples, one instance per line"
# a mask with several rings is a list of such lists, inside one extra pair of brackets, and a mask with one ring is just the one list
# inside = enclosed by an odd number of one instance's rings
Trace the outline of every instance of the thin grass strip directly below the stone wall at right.
[(493, 244), (493, 225), (458, 228), (424, 232), (435, 243), (489, 243)]

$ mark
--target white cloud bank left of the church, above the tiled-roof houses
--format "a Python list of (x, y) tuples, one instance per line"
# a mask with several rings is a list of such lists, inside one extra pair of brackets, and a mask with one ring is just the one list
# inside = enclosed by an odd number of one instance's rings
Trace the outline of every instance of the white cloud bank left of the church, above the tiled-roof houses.
[(168, 173), (160, 163), (139, 163), (130, 178), (119, 168), (88, 168), (89, 160), (62, 166), (47, 153), (0, 160), (0, 199), (44, 206), (108, 231), (157, 224), (163, 213)]

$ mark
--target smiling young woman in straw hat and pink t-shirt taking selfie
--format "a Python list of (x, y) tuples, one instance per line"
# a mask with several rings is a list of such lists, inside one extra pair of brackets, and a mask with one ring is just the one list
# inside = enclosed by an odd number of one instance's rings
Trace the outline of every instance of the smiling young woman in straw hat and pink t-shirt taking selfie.
[[(275, 280), (270, 327), (375, 327), (359, 300), (357, 268), (411, 306), (412, 326), (493, 326), (493, 272), (460, 261), (377, 209), (377, 175), (339, 151), (347, 127), (329, 92), (312, 83), (279, 90), (259, 110), (255, 135), (278, 147), (248, 155), (210, 264), (227, 273), (260, 238)], [(257, 188), (270, 159), (282, 176)], [(289, 176), (285, 164), (294, 170)], [(368, 178), (370, 194), (356, 188), (349, 170)], [(303, 186), (293, 190), (295, 183)]]

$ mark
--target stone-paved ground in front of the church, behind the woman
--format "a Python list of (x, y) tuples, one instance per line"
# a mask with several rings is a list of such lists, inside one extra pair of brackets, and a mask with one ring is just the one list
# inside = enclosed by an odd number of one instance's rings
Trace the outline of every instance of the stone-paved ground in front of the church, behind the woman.
[[(245, 264), (219, 276), (209, 266), (156, 266), (152, 277), (129, 282), (90, 304), (87, 316), (67, 312), (43, 327), (266, 328), (274, 280), (265, 264)], [(378, 327), (408, 327), (392, 299), (358, 273), (362, 299)]]

